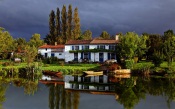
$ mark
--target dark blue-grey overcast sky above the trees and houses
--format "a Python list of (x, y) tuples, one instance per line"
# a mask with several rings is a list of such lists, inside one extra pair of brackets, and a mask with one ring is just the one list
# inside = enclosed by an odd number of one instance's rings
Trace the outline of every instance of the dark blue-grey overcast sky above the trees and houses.
[(14, 38), (29, 39), (34, 33), (44, 38), (51, 10), (69, 4), (78, 7), (81, 29), (90, 29), (93, 37), (102, 31), (111, 35), (175, 31), (175, 0), (0, 0), (0, 27)]

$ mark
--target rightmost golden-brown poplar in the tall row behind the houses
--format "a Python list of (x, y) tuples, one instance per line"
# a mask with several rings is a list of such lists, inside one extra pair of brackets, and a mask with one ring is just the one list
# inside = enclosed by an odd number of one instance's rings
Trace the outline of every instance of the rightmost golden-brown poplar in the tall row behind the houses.
[(80, 18), (78, 14), (78, 8), (76, 7), (74, 10), (74, 18), (73, 18), (73, 38), (78, 39), (80, 37), (81, 29), (80, 29)]

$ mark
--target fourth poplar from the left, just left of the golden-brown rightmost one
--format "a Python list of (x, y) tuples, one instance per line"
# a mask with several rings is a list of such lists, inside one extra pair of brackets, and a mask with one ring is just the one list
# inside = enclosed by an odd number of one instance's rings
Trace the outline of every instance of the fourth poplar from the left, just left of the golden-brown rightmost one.
[(67, 37), (68, 39), (72, 38), (72, 5), (69, 5), (68, 15), (67, 15)]

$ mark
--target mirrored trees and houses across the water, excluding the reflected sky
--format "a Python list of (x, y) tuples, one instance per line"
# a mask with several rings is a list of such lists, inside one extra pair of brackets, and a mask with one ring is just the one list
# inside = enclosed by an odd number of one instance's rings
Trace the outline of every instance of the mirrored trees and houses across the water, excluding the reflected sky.
[[(10, 99), (5, 96), (7, 89), (11, 87), (10, 83), (16, 88), (22, 88), (25, 94), (35, 97), (39, 89), (39, 79), (36, 78), (39, 77), (28, 77), (27, 75), (1, 77), (0, 108), (6, 102), (5, 100)], [(45, 95), (47, 96), (45, 99), (48, 100), (46, 109), (80, 109), (81, 98), (84, 93), (88, 94), (86, 97), (89, 94), (112, 95), (116, 104), (121, 104), (125, 109), (136, 108), (140, 101), (145, 100), (148, 95), (162, 96), (166, 101), (167, 108), (173, 108), (171, 104), (175, 104), (174, 78), (65, 75), (63, 79), (40, 80), (40, 83), (47, 87), (44, 90), (48, 92)], [(94, 99), (95, 97), (94, 95)], [(25, 101), (19, 102), (23, 103)], [(102, 105), (100, 102), (102, 102), (101, 99), (94, 101), (95, 104)], [(105, 102), (108, 103), (108, 100), (106, 99)]]

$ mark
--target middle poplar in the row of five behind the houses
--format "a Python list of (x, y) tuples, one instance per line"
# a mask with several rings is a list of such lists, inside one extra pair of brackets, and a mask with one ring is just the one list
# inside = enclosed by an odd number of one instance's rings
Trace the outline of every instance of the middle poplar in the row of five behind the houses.
[(66, 6), (63, 5), (62, 11), (61, 11), (61, 20), (62, 20), (62, 37), (63, 37), (63, 42), (67, 42), (67, 13), (66, 13)]

